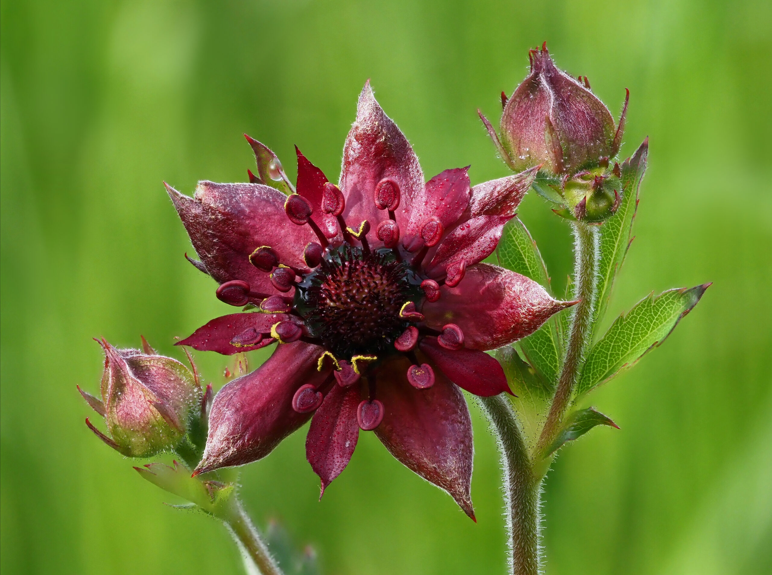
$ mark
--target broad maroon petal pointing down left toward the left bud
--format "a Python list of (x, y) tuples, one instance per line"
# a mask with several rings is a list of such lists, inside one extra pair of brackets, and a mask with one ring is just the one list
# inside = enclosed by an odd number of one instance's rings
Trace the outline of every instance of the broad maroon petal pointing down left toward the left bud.
[(311, 417), (292, 407), (303, 384), (326, 391), (331, 368), (317, 371), (323, 349), (285, 343), (251, 374), (225, 385), (212, 402), (209, 435), (195, 473), (245, 465), (265, 457)]

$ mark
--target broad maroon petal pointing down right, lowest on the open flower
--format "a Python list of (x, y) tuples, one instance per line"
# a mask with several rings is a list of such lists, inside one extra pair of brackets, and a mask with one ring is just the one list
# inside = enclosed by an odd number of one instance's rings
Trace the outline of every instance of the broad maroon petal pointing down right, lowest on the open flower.
[[(429, 389), (408, 383), (410, 360), (378, 370), (378, 398), (386, 413), (375, 435), (403, 465), (449, 492), (466, 515), (472, 508), (472, 421), (464, 396), (438, 370)], [(383, 384), (381, 385), (381, 382)]]

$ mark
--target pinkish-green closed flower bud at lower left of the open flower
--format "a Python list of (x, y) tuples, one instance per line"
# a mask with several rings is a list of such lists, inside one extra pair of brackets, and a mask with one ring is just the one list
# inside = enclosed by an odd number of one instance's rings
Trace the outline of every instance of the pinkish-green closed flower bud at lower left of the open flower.
[[(195, 377), (178, 360), (140, 350), (117, 350), (105, 340), (100, 400), (80, 390), (103, 416), (110, 437), (86, 424), (107, 445), (128, 457), (174, 449), (185, 437), (188, 417), (198, 417)], [(152, 349), (146, 347), (146, 351)]]

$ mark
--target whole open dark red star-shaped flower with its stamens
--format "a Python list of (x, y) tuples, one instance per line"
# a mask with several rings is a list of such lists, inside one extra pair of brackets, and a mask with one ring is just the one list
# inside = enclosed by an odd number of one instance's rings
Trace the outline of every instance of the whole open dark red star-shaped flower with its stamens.
[(195, 266), (221, 284), (218, 297), (259, 306), (178, 344), (231, 354), (280, 343), (215, 397), (196, 472), (262, 458), (313, 416), (306, 455), (322, 491), (346, 467), (360, 429), (372, 430), (473, 518), (472, 424), (459, 387), (509, 392), (485, 350), (570, 305), (480, 263), (536, 170), (470, 187), (462, 167), (424, 183), (369, 83), (337, 186), (297, 151), (296, 193), (285, 196), (261, 167), (278, 162), (273, 152), (249, 140), (259, 151), (254, 183), (204, 181), (194, 198), (168, 188), (201, 258)]

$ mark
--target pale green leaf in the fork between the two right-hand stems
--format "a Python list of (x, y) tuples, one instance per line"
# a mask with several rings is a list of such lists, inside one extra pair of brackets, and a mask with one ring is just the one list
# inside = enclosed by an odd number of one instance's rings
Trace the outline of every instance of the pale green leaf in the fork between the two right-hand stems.
[(512, 346), (499, 347), (493, 357), (501, 364), (506, 381), (515, 394), (508, 397), (517, 411), (528, 447), (533, 448), (541, 433), (543, 416), (550, 408), (552, 386), (523, 361)]

